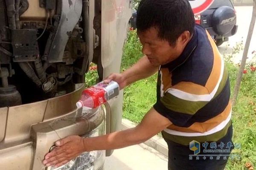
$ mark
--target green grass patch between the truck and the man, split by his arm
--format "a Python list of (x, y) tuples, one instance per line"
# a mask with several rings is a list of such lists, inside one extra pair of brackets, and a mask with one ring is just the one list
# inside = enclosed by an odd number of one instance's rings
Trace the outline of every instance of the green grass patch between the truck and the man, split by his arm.
[[(143, 56), (141, 48), (142, 46), (136, 31), (131, 30), (125, 43), (121, 70), (129, 68)], [(135, 123), (140, 122), (145, 113), (156, 102), (156, 82), (157, 75), (155, 74), (147, 79), (137, 81), (124, 89), (123, 118)]]

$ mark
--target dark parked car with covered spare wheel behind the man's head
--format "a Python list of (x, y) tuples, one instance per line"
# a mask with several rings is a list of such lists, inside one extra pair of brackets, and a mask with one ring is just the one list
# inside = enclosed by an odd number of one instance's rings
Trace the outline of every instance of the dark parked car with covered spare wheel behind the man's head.
[[(133, 28), (136, 28), (136, 15), (134, 11), (129, 20)], [(207, 10), (195, 15), (195, 22), (207, 29), (218, 46), (236, 34), (238, 28), (236, 11), (230, 0), (214, 0)]]

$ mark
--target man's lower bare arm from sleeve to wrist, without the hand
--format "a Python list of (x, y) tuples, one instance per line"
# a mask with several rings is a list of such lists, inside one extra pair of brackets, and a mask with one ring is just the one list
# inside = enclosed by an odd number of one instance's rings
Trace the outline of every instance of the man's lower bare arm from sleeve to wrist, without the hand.
[(151, 108), (139, 125), (134, 128), (113, 132), (104, 136), (84, 139), (84, 150), (108, 150), (139, 144), (150, 139), (172, 123)]

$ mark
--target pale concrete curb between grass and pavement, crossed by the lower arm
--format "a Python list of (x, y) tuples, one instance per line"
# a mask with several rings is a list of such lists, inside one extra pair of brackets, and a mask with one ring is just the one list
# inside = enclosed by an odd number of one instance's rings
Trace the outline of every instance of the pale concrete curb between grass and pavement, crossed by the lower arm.
[[(134, 122), (131, 122), (127, 119), (122, 119), (122, 130), (126, 130), (132, 127), (135, 127), (136, 124)], [(149, 147), (152, 147), (153, 149), (157, 150), (158, 152), (162, 153), (164, 156), (168, 157), (168, 147), (166, 142), (163, 138), (160, 136), (153, 136), (151, 139), (148, 139), (144, 142), (144, 144), (148, 145)]]

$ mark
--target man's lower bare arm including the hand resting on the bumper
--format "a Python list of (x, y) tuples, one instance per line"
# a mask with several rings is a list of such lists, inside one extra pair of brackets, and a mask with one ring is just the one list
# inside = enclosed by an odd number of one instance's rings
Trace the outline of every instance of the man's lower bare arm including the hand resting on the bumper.
[(92, 138), (68, 136), (57, 141), (55, 143), (57, 147), (50, 153), (47, 153), (43, 163), (46, 166), (55, 165), (59, 167), (79, 156), (84, 151), (118, 149), (139, 144), (171, 124), (169, 119), (157, 113), (154, 108), (151, 108), (140, 124), (134, 128)]

